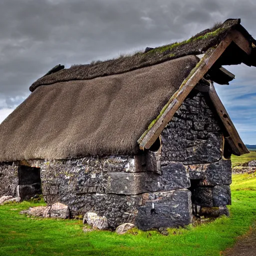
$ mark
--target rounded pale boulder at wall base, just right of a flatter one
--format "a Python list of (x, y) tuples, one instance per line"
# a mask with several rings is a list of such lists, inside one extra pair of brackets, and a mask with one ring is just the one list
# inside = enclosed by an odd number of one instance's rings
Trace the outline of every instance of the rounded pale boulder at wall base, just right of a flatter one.
[(69, 208), (63, 203), (55, 202), (47, 206), (43, 211), (44, 218), (68, 218), (70, 215)]

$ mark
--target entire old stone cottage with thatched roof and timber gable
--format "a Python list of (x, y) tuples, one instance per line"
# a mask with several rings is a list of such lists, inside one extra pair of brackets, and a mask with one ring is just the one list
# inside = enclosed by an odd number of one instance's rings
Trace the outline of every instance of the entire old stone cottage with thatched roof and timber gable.
[(108, 227), (189, 224), (231, 203), (230, 155), (248, 150), (213, 82), (256, 66), (256, 41), (228, 19), (186, 41), (56, 66), (0, 124), (0, 195), (42, 192)]

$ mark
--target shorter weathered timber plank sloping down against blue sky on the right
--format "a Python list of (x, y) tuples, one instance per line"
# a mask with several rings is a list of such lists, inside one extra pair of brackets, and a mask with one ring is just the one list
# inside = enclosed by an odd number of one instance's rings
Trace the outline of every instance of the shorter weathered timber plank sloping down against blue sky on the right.
[[(241, 155), (241, 154), (246, 154), (249, 153), (248, 149), (246, 146), (243, 144), (237, 130), (235, 129), (225, 107), (223, 106), (222, 102), (220, 101), (213, 82), (210, 84), (210, 89), (209, 89), (209, 96), (210, 99), (218, 113), (218, 116), (220, 117), (226, 131), (229, 134), (229, 137), (231, 138), (233, 143), (230, 143), (230, 146), (233, 149), (233, 153), (236, 155)], [(228, 141), (230, 141), (230, 138), (228, 138)]]

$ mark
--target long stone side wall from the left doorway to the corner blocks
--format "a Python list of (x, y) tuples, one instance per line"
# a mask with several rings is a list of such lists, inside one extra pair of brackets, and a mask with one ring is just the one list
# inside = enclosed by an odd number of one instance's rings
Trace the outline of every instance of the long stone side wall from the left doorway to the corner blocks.
[[(96, 212), (104, 215), (112, 228), (125, 222), (141, 229), (159, 228), (163, 220), (166, 226), (190, 223), (191, 192), (184, 189), (190, 186), (185, 167), (173, 163), (164, 167), (162, 175), (141, 172), (136, 168), (136, 158), (84, 157), (30, 163), (41, 168), (45, 201), (68, 205), (72, 216)], [(179, 178), (175, 179), (177, 171)], [(165, 212), (164, 208), (171, 205), (175, 210)]]

